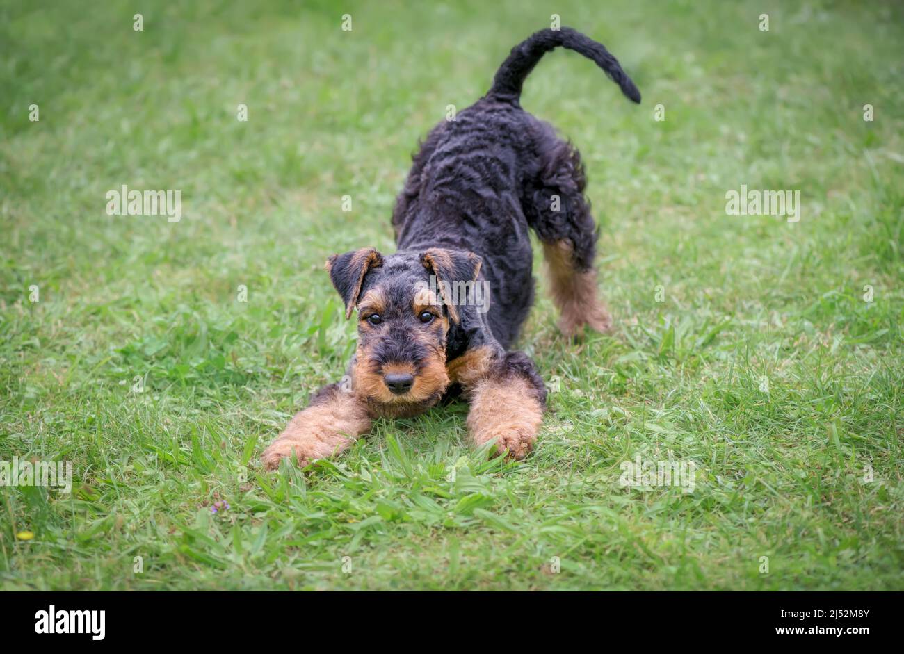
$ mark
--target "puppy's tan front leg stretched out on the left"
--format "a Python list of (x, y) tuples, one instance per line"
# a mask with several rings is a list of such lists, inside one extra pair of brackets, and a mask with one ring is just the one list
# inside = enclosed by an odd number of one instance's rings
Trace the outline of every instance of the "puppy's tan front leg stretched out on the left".
[(343, 452), (370, 431), (367, 405), (339, 384), (321, 388), (304, 411), (296, 414), (261, 455), (264, 467), (275, 470), (279, 460), (293, 453), (301, 465)]

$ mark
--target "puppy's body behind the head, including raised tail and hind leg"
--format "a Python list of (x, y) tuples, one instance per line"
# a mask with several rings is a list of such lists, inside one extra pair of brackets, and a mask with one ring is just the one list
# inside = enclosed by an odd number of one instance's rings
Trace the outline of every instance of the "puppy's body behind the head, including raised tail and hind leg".
[(598, 42), (568, 28), (534, 33), (513, 48), (484, 98), (430, 132), (392, 216), (400, 250), (440, 246), (482, 257), (492, 298), (488, 319), (504, 347), (532, 304), (529, 228), (546, 248), (563, 328), (607, 328), (605, 309), (589, 286), (597, 229), (583, 198), (579, 155), (520, 105), (524, 79), (559, 46), (595, 61), (628, 98), (640, 101), (634, 82)]

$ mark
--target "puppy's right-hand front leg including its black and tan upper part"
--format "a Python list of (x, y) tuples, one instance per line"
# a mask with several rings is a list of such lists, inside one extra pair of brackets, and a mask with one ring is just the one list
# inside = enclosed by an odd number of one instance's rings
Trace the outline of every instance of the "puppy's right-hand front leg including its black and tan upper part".
[(523, 459), (537, 439), (546, 409), (546, 388), (533, 361), (523, 352), (495, 356), (490, 350), (466, 353), (450, 366), (471, 403), (467, 428), (480, 446), (495, 440), (495, 451)]

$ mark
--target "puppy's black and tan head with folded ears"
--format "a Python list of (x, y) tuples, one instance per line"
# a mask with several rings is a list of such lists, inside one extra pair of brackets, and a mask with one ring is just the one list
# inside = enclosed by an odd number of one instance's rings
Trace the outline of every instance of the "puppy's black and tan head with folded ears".
[(345, 304), (358, 309), (354, 392), (384, 416), (413, 416), (437, 403), (449, 379), (446, 342), (460, 320), (447, 289), (473, 282), (480, 257), (429, 248), (382, 256), (373, 248), (326, 262)]

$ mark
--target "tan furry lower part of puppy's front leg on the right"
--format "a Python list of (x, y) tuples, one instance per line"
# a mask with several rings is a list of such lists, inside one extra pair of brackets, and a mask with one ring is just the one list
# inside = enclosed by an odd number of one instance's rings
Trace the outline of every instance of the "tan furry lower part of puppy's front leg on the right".
[(473, 444), (496, 439), (496, 453), (523, 459), (533, 448), (543, 420), (537, 391), (525, 378), (485, 378), (471, 397), (467, 428)]

